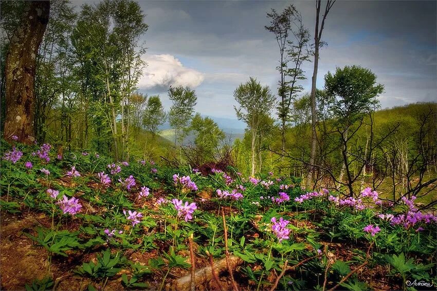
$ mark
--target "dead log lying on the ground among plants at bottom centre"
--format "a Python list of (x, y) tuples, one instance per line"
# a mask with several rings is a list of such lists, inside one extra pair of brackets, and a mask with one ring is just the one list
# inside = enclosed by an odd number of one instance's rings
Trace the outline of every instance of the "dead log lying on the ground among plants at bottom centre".
[[(231, 269), (243, 264), (243, 260), (239, 257), (230, 256), (229, 257), (229, 265)], [(217, 262), (214, 262), (214, 271), (216, 274), (220, 274), (223, 271), (227, 270), (226, 258), (221, 259)], [(195, 274), (195, 285), (206, 285), (209, 281), (213, 279), (211, 266), (206, 266), (202, 269), (196, 271)], [(191, 287), (191, 274), (184, 276), (182, 278), (176, 279), (172, 282), (170, 286), (167, 286), (170, 290), (190, 290)]]

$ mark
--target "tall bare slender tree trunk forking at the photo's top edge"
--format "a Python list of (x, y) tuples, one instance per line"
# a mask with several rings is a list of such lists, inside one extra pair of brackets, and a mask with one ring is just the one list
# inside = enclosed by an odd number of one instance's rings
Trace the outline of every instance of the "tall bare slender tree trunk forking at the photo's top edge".
[[(324, 13), (320, 15), (321, 0), (316, 0), (316, 27), (314, 30), (314, 70), (311, 82), (311, 151), (309, 153), (309, 171), (306, 176), (306, 187), (309, 187), (313, 181), (315, 170), (316, 148), (317, 148), (317, 131), (316, 131), (316, 94), (317, 94), (317, 71), (319, 68), (319, 49), (322, 43), (322, 32), (325, 25), (327, 14), (334, 5), (335, 0), (327, 0)], [(320, 22), (320, 16), (322, 18)]]

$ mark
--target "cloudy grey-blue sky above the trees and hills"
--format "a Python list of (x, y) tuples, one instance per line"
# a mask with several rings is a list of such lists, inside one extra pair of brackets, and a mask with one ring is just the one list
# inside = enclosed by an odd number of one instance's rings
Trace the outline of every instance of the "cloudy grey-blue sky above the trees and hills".
[[(233, 91), (250, 76), (277, 94), (279, 47), (264, 29), (266, 13), (293, 4), (314, 38), (314, 1), (140, 1), (149, 25), (148, 63), (141, 92), (159, 94), (167, 109), (170, 85), (196, 90), (195, 110), (236, 119)], [(322, 2), (322, 7), (325, 3)], [(371, 69), (385, 86), (381, 108), (437, 99), (436, 2), (337, 1), (327, 16), (317, 87), (336, 67)], [(303, 67), (311, 90), (313, 63)]]

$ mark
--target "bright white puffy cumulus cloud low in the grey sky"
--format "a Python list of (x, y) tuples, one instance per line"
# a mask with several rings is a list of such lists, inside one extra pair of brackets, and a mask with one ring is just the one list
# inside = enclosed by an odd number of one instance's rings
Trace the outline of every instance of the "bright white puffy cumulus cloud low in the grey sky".
[(143, 57), (148, 66), (144, 68), (138, 87), (141, 89), (165, 89), (172, 86), (189, 86), (195, 88), (205, 79), (203, 73), (184, 67), (171, 54), (147, 54)]

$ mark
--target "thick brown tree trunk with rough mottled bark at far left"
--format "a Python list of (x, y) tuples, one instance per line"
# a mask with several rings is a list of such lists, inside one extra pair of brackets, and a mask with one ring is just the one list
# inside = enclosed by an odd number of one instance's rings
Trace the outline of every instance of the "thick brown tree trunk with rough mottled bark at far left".
[(36, 59), (48, 23), (50, 1), (31, 1), (25, 6), (20, 26), (9, 45), (5, 67), (6, 120), (5, 140), (16, 135), (18, 141), (35, 140), (34, 82)]

